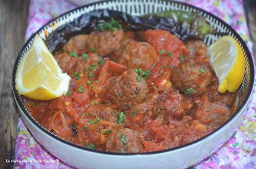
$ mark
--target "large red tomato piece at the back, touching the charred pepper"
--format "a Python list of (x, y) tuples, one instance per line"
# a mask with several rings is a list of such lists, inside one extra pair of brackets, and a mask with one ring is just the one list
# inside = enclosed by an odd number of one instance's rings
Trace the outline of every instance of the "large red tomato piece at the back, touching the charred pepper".
[(179, 57), (180, 55), (186, 55), (188, 50), (185, 44), (175, 35), (164, 30), (147, 30), (144, 33), (145, 40), (153, 45), (158, 53), (161, 50), (165, 50), (172, 53), (173, 56)]

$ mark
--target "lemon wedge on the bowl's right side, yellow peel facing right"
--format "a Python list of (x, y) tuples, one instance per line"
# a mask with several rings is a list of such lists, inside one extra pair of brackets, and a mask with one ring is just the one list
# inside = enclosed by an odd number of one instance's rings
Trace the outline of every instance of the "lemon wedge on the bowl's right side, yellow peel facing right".
[(208, 49), (210, 64), (219, 80), (218, 91), (235, 92), (242, 84), (245, 73), (245, 59), (242, 48), (231, 36), (223, 36)]

